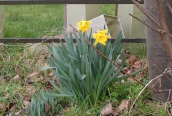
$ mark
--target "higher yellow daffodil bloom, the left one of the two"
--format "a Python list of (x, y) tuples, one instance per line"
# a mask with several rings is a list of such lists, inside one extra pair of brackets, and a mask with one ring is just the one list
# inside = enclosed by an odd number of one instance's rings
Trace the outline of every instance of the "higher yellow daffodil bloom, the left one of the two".
[(77, 25), (79, 27), (78, 30), (80, 30), (80, 31), (82, 31), (82, 33), (84, 33), (85, 31), (87, 31), (90, 28), (90, 24), (91, 24), (91, 21), (82, 20), (77, 23)]

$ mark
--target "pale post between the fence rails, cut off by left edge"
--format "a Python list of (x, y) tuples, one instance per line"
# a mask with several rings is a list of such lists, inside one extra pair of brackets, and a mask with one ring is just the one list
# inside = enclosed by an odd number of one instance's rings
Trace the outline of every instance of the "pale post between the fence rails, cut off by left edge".
[(0, 38), (3, 38), (4, 6), (0, 5)]

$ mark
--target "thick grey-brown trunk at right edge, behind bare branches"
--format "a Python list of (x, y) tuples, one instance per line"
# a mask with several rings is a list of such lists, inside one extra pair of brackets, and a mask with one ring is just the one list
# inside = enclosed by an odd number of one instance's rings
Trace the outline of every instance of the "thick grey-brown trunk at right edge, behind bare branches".
[[(164, 6), (164, 14), (166, 17), (166, 22), (168, 24), (169, 30), (172, 33), (172, 15), (167, 8), (167, 2), (172, 6), (172, 0), (162, 0)], [(157, 0), (145, 0), (145, 8), (153, 14), (158, 19), (158, 9), (157, 9)], [(152, 23), (149, 19), (146, 19), (146, 22), (151, 27), (158, 30), (158, 27)], [(162, 40), (159, 34), (149, 28), (147, 28), (147, 53), (148, 53), (148, 67), (150, 79), (155, 78), (156, 76), (162, 74), (164, 70), (170, 65), (170, 57), (163, 46)], [(156, 66), (159, 68), (157, 69)], [(160, 81), (154, 81), (152, 84), (155, 85), (154, 89), (161, 92), (153, 92), (153, 98), (166, 102), (167, 99), (172, 100), (172, 97), (169, 96), (169, 89), (172, 89), (172, 76), (167, 74), (169, 78), (163, 76)], [(172, 93), (171, 93), (172, 94)]]

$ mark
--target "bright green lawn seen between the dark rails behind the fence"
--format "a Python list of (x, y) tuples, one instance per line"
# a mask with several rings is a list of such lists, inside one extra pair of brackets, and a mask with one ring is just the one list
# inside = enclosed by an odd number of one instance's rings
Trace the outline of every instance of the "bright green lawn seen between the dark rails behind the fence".
[[(101, 5), (101, 14), (115, 14), (115, 5)], [(4, 38), (40, 38), (61, 34), (63, 5), (5, 6)]]

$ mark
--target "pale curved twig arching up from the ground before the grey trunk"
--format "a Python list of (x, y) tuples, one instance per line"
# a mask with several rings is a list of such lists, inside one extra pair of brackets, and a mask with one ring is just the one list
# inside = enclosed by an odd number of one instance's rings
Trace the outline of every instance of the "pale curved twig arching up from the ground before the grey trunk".
[(152, 83), (154, 80), (156, 80), (156, 79), (162, 77), (163, 75), (165, 75), (166, 73), (169, 73), (169, 72), (171, 72), (171, 71), (164, 71), (163, 74), (160, 74), (159, 76), (153, 78), (152, 80), (150, 80), (150, 81), (146, 84), (146, 86), (140, 91), (140, 93), (138, 94), (138, 96), (137, 96), (136, 99), (134, 100), (134, 102), (133, 102), (133, 104), (132, 104), (132, 106), (131, 106), (131, 108), (130, 108), (129, 114), (130, 114), (131, 110), (133, 109), (134, 104), (136, 103), (137, 99), (138, 99), (139, 96), (143, 93), (143, 91), (147, 88), (147, 86), (148, 86), (150, 83)]

